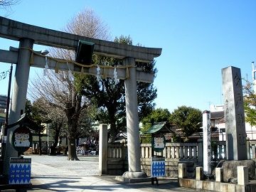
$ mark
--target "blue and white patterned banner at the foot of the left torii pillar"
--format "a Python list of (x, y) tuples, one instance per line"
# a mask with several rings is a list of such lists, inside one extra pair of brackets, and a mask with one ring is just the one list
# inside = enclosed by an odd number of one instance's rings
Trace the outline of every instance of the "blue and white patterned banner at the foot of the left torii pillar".
[(9, 169), (9, 184), (31, 183), (31, 159), (11, 158)]

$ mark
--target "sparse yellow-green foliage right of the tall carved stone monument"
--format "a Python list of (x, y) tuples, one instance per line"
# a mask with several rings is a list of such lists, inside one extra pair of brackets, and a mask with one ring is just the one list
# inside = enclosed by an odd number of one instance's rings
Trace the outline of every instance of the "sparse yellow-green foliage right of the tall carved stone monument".
[(246, 85), (243, 87), (245, 122), (248, 122), (251, 126), (256, 126), (256, 95), (252, 90), (252, 85), (252, 82), (246, 81)]

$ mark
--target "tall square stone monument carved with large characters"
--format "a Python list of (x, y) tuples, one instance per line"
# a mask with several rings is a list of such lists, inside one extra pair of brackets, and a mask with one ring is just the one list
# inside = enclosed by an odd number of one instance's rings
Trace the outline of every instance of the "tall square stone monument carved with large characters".
[(245, 112), (240, 68), (222, 69), (227, 160), (246, 160)]

